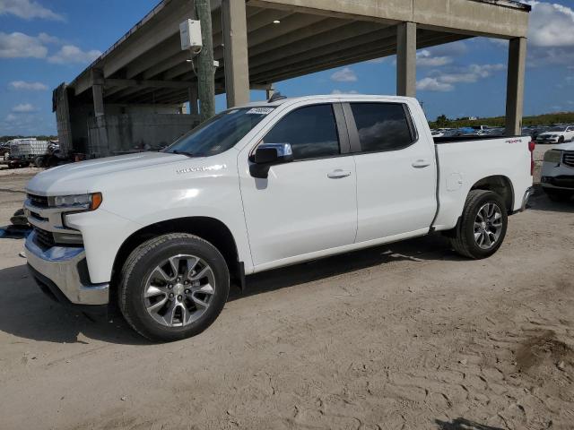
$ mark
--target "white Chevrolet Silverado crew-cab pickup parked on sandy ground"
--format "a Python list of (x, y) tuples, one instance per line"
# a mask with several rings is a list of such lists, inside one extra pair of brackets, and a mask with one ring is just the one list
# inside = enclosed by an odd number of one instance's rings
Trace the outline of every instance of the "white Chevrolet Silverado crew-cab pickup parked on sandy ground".
[(26, 254), (65, 304), (117, 304), (152, 340), (204, 331), (230, 280), (442, 232), (495, 253), (532, 193), (528, 137), (433, 141), (416, 99), (272, 98), (225, 110), (161, 152), (30, 180)]

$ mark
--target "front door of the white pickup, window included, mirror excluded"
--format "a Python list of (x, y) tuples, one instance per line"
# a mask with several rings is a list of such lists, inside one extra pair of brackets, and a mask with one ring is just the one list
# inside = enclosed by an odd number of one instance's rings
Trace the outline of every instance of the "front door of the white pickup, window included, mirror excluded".
[(294, 161), (273, 166), (261, 179), (250, 176), (248, 169), (248, 157), (257, 145), (239, 155), (254, 265), (297, 262), (308, 254), (352, 245), (357, 231), (356, 172), (341, 105), (297, 107), (270, 125), (257, 144), (261, 142), (290, 143)]

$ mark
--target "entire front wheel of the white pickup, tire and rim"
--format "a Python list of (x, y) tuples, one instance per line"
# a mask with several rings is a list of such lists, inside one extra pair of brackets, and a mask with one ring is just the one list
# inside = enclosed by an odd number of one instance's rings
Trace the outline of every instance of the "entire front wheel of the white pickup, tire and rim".
[(119, 307), (150, 340), (195, 336), (222, 312), (230, 274), (222, 254), (204, 239), (171, 233), (139, 245), (126, 260)]

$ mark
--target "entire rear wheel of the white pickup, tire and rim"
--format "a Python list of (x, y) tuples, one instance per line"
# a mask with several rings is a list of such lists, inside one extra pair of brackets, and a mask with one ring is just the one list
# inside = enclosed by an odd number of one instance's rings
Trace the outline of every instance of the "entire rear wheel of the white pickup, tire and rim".
[(496, 253), (508, 227), (506, 206), (500, 195), (486, 190), (472, 190), (455, 228), (451, 244), (458, 254), (481, 259)]

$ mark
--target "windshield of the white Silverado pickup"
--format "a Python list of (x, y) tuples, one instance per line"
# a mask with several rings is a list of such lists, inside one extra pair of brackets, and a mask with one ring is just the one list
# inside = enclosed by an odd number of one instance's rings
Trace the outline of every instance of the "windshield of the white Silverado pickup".
[(241, 107), (221, 114), (181, 136), (164, 152), (186, 154), (190, 157), (209, 157), (229, 150), (239, 142), (274, 107)]

